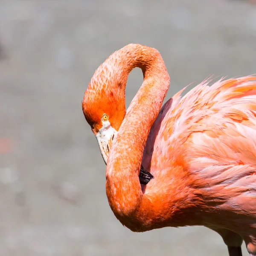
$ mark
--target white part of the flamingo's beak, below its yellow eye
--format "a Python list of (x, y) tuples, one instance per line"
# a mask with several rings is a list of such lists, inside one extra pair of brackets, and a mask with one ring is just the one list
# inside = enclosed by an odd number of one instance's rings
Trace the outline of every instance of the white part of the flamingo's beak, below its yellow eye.
[(109, 121), (102, 121), (102, 128), (100, 128), (98, 133), (95, 135), (99, 143), (99, 149), (105, 164), (107, 164), (108, 154), (112, 145), (112, 140), (116, 133), (117, 131), (111, 127)]

